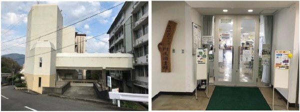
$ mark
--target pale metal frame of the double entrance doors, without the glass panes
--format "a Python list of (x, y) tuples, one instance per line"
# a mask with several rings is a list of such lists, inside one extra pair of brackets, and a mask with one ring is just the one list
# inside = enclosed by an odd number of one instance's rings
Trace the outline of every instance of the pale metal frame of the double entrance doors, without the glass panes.
[[(257, 76), (258, 76), (258, 49), (259, 49), (259, 15), (214, 15), (214, 85), (224, 86), (248, 86), (257, 87)], [(218, 44), (219, 44), (219, 19), (232, 19), (232, 69), (231, 69), (231, 82), (218, 81)], [(253, 81), (251, 83), (239, 82), (239, 46), (241, 19), (255, 19), (255, 35), (254, 35), (254, 50), (253, 50)], [(254, 68), (255, 67), (255, 68)]]

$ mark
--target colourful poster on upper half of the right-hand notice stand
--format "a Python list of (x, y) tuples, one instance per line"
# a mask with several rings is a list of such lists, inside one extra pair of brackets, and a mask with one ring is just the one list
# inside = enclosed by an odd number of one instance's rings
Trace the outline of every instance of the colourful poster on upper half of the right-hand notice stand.
[(290, 51), (286, 51), (286, 50), (275, 51), (275, 68), (276, 69), (282, 69), (282, 70), (289, 69), (289, 58), (287, 56), (289, 53), (290, 53)]

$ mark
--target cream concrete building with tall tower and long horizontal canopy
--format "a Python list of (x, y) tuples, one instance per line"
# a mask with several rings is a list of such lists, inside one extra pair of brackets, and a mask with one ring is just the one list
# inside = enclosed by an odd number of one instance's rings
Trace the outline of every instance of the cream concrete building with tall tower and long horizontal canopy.
[[(106, 87), (105, 70), (131, 70), (131, 54), (85, 53), (85, 35), (62, 26), (56, 4), (33, 4), (27, 19), (24, 76), (27, 87), (42, 94), (55, 81), (85, 79), (85, 70), (102, 70), (98, 82)], [(62, 30), (61, 30), (62, 29)]]

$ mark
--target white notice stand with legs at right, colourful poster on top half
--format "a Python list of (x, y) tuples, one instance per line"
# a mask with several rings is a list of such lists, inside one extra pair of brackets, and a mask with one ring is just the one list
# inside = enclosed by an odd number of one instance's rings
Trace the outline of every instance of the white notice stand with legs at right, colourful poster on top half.
[(274, 64), (274, 78), (273, 78), (273, 101), (272, 108), (274, 111), (274, 89), (287, 90), (287, 103), (286, 110), (288, 111), (288, 72), (289, 72), (289, 58), (287, 54), (290, 51), (276, 50), (275, 51), (275, 64)]

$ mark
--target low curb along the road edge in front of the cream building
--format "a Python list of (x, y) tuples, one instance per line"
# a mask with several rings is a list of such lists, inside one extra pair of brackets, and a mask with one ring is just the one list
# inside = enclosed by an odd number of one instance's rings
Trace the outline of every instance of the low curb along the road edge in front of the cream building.
[(148, 110), (135, 110), (135, 109), (122, 108), (122, 107), (115, 107), (110, 102), (102, 102), (102, 101), (96, 101), (96, 100), (67, 97), (67, 96), (62, 96), (62, 95), (57, 95), (57, 94), (48, 94), (48, 96), (59, 97), (59, 98), (64, 98), (64, 99), (71, 99), (71, 100), (86, 101), (86, 102), (91, 102), (91, 103), (96, 103), (96, 104), (101, 104), (101, 105), (107, 105), (104, 107), (107, 109), (114, 109), (114, 110), (119, 110), (119, 111), (148, 111)]

